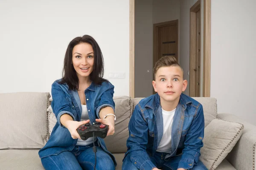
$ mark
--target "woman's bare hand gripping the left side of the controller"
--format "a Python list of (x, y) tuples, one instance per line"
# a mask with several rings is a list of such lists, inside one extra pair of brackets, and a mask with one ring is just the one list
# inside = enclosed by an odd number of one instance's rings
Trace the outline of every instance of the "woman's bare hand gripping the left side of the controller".
[(77, 121), (73, 121), (73, 120), (67, 120), (67, 122), (65, 122), (67, 129), (70, 131), (71, 137), (73, 139), (81, 139), (81, 137), (79, 136), (79, 134), (77, 133), (77, 128), (80, 127), (81, 125), (84, 125), (86, 123), (89, 123), (90, 120), (84, 120), (81, 122), (77, 122)]

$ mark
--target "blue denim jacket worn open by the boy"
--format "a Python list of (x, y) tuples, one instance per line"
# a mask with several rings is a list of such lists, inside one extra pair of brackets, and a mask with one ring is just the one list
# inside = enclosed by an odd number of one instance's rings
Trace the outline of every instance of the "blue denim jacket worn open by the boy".
[[(202, 105), (185, 94), (180, 95), (173, 124), (172, 152), (165, 161), (173, 156), (181, 156), (178, 168), (191, 169), (197, 164), (204, 138), (204, 112)], [(142, 99), (134, 108), (129, 122), (128, 150), (125, 153), (140, 170), (151, 170), (155, 165), (149, 156), (154, 156), (163, 136), (163, 116), (160, 96), (151, 95)], [(129, 153), (129, 154), (128, 154)]]

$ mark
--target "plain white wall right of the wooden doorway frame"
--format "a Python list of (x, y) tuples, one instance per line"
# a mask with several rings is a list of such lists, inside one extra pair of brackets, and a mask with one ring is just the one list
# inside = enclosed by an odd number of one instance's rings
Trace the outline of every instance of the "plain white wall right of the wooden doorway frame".
[(256, 125), (256, 1), (212, 0), (211, 96)]

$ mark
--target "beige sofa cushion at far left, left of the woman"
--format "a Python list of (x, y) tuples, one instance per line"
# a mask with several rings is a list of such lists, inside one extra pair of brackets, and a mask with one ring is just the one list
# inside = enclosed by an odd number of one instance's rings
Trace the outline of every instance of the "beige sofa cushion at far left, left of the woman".
[(0, 94), (0, 149), (42, 148), (47, 142), (49, 93)]

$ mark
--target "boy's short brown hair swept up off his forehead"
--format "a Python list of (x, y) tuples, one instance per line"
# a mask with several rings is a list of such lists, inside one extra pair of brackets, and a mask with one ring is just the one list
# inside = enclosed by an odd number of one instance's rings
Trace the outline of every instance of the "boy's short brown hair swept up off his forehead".
[(160, 67), (169, 67), (169, 66), (178, 66), (178, 67), (180, 67), (180, 69), (183, 73), (183, 69), (181, 68), (181, 66), (177, 62), (177, 59), (174, 56), (163, 56), (156, 62), (155, 66), (154, 66), (154, 70), (153, 70), (154, 78), (156, 78), (157, 70)]

